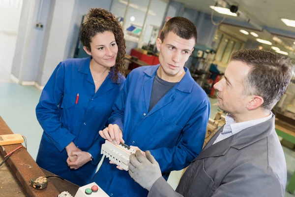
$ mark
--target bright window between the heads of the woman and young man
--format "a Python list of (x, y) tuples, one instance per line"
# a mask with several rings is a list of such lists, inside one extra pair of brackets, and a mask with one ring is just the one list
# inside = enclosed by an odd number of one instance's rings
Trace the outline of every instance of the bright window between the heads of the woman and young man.
[(125, 39), (153, 44), (157, 38), (168, 0), (113, 0), (111, 12), (124, 28)]

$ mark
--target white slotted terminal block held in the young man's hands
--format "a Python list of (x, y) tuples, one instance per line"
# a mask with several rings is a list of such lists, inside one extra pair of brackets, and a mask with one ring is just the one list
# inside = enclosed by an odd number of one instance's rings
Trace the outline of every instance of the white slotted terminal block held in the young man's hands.
[(135, 154), (135, 150), (123, 143), (117, 144), (116, 141), (110, 142), (106, 140), (101, 146), (101, 154), (104, 154), (110, 161), (126, 171), (129, 170), (129, 156), (133, 153)]

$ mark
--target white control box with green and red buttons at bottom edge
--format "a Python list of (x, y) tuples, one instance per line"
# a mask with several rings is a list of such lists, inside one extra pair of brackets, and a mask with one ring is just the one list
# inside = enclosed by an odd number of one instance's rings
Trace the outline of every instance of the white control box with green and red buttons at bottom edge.
[(80, 187), (75, 197), (110, 197), (95, 182)]

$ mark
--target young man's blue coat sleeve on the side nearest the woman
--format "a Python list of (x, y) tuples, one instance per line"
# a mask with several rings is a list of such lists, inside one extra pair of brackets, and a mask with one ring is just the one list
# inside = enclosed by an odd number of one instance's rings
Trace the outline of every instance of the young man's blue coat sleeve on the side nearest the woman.
[(127, 79), (125, 80), (123, 89), (120, 91), (120, 94), (113, 105), (113, 113), (111, 114), (111, 116), (108, 120), (109, 124), (113, 124), (113, 125), (117, 124), (119, 126), (119, 128), (121, 129), (121, 131), (123, 131), (123, 129), (124, 129), (123, 128), (124, 110), (125, 110), (126, 98), (128, 95), (130, 74), (127, 76)]

